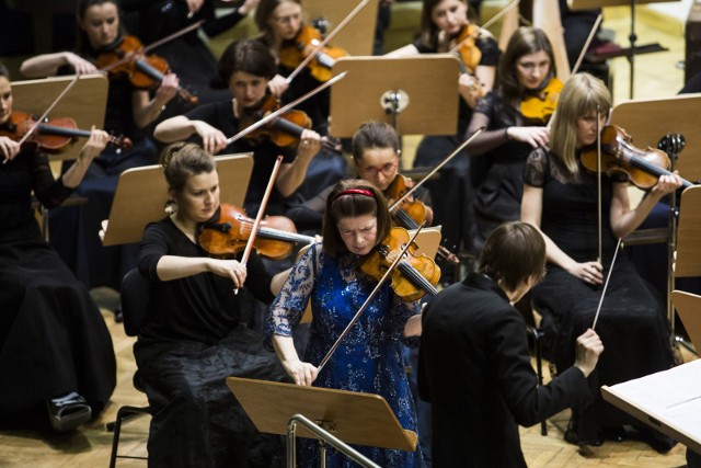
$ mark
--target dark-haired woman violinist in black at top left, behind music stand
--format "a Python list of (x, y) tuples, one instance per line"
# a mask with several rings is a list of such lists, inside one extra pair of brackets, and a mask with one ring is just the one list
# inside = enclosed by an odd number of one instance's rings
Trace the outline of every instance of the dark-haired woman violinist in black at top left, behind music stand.
[[(76, 52), (32, 57), (22, 64), (22, 72), (31, 78), (95, 71), (101, 53), (119, 43), (120, 30), (116, 0), (81, 0), (78, 2), (78, 42)], [(153, 141), (145, 128), (153, 123), (176, 93), (179, 79), (164, 76), (154, 95), (136, 88), (128, 76), (111, 73), (105, 129), (128, 137), (130, 150), (107, 148), (90, 167), (76, 194), (88, 203), (51, 213), (51, 244), (89, 287), (111, 286), (118, 289), (125, 273), (136, 265), (134, 246), (104, 248), (96, 236), (101, 222), (110, 216), (119, 174), (129, 168), (153, 164), (158, 160)], [(64, 168), (66, 169), (66, 168)]]

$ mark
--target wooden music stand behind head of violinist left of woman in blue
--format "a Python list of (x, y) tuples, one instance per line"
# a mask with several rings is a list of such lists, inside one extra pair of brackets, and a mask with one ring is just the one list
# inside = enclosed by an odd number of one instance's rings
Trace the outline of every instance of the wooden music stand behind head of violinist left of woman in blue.
[[(252, 153), (217, 157), (221, 203), (242, 205), (252, 170)], [(146, 225), (165, 216), (166, 201), (168, 184), (161, 165), (124, 171), (117, 182), (102, 244), (110, 247), (141, 241)]]

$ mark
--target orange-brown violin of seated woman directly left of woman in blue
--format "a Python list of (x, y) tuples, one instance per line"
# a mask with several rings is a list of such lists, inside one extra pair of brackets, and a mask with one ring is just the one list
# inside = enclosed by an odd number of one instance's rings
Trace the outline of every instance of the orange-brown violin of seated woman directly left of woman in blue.
[[(221, 204), (215, 216), (199, 227), (199, 246), (215, 256), (229, 258), (245, 249), (253, 230), (253, 219), (243, 208)], [(314, 238), (297, 233), (291, 219), (266, 216), (261, 222), (253, 247), (258, 255), (283, 260), (292, 253), (294, 243), (312, 243)]]

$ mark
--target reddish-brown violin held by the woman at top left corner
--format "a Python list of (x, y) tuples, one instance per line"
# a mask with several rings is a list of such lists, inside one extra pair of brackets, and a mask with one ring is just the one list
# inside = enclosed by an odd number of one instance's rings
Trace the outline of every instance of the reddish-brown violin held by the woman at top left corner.
[[(170, 70), (168, 61), (158, 55), (143, 55), (143, 45), (134, 36), (122, 36), (97, 55), (97, 68), (110, 73), (125, 73), (136, 88), (150, 89), (163, 81), (163, 75)], [(177, 94), (187, 103), (196, 104), (197, 96), (183, 87)]]

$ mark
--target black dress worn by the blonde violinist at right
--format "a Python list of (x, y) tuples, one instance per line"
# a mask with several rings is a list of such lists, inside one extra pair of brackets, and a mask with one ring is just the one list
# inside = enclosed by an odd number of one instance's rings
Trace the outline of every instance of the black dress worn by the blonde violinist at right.
[[(576, 178), (566, 173), (559, 159), (539, 149), (530, 155), (524, 179), (526, 184), (543, 189), (543, 232), (575, 261), (593, 261), (598, 255), (596, 176), (582, 165)], [(602, 178), (602, 189), (606, 277), (617, 243), (609, 217), (612, 181), (607, 176)], [(543, 316), (542, 328), (552, 341), (550, 358), (558, 369), (574, 362), (574, 343), (591, 327), (601, 289), (554, 264), (548, 264), (545, 279), (532, 289), (533, 306)], [(589, 377), (595, 388), (664, 370), (673, 364), (663, 305), (641, 279), (624, 251), (616, 259), (596, 332), (605, 351)], [(574, 422), (581, 440), (594, 440), (601, 426), (621, 425), (631, 420), (605, 403), (597, 391), (590, 404), (574, 408)]]

